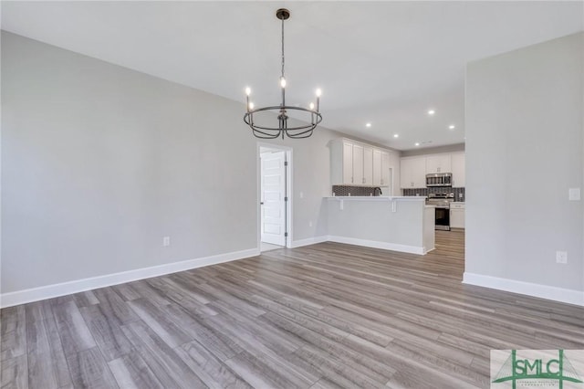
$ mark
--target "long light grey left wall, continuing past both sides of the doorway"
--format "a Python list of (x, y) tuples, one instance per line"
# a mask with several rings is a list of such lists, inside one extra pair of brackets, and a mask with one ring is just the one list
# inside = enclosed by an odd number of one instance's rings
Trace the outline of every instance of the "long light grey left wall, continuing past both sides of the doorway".
[[(3, 32), (0, 291), (257, 248), (258, 141), (244, 110)], [(295, 239), (326, 235), (327, 144), (339, 136), (284, 142)]]

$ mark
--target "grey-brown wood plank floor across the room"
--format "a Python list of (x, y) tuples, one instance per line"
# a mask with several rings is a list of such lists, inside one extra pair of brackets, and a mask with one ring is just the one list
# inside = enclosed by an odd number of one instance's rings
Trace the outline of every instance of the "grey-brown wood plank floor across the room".
[(323, 243), (2, 310), (2, 387), (488, 387), (491, 349), (582, 349), (584, 310)]

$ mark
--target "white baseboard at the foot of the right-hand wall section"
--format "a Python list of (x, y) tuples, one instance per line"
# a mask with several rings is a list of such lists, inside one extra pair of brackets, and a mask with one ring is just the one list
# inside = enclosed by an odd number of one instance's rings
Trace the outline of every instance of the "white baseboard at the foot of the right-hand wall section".
[(463, 283), (491, 289), (505, 290), (513, 293), (541, 299), (554, 300), (584, 307), (584, 292), (574, 289), (563, 289), (539, 285), (531, 282), (516, 281), (515, 279), (499, 279), (497, 277), (484, 276), (464, 272)]

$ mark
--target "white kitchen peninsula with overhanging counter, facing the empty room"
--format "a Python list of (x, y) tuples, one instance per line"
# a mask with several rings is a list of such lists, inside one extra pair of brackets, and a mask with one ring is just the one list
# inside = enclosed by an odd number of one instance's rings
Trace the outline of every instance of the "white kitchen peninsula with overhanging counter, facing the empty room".
[(328, 240), (425, 254), (434, 248), (434, 206), (422, 196), (328, 196)]

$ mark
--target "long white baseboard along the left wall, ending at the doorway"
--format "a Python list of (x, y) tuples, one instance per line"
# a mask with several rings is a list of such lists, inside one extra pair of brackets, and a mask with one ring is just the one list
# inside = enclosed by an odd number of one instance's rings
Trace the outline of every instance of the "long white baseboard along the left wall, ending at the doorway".
[(151, 268), (137, 268), (135, 270), (122, 271), (120, 273), (92, 277), (90, 279), (78, 279), (75, 281), (47, 285), (34, 289), (18, 290), (0, 295), (0, 308), (26, 304), (27, 302), (32, 301), (52, 299), (90, 289), (105, 288), (111, 285), (118, 285), (138, 279), (150, 279), (151, 277), (163, 276), (165, 274), (176, 273), (177, 271), (203, 268), (204, 266), (229, 262), (236, 259), (255, 257), (257, 255), (259, 255), (259, 248), (250, 248), (211, 257), (172, 262), (169, 264), (153, 266)]

